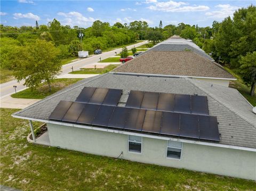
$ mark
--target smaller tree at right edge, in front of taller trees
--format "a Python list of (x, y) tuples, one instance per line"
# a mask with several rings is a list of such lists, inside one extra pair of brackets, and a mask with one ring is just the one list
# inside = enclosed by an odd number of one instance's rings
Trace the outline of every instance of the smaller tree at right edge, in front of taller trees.
[(242, 75), (245, 84), (251, 87), (250, 95), (253, 96), (256, 85), (256, 51), (242, 56), (239, 63), (241, 64), (239, 73)]

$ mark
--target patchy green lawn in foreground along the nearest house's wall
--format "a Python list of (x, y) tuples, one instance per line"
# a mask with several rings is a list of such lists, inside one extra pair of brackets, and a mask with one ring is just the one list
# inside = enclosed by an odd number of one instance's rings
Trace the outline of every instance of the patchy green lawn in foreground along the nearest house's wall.
[[(21, 190), (255, 190), (256, 182), (28, 143), (29, 123), (1, 109), (1, 185)], [(38, 127), (39, 123), (34, 123)]]

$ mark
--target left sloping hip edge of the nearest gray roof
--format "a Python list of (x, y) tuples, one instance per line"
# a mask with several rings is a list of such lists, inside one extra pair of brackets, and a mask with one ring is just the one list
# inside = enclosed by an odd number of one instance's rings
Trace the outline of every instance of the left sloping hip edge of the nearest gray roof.
[[(54, 98), (54, 97), (56, 97), (56, 96), (59, 96), (59, 95), (61, 95), (61, 94), (63, 94), (63, 93), (69, 92), (70, 90), (75, 89), (75, 88), (77, 88), (78, 86), (80, 86), (80, 85), (82, 85), (82, 84), (87, 84), (88, 82), (93, 81), (93, 80), (95, 80), (95, 79), (98, 79), (100, 76), (105, 76), (106, 74), (107, 74), (107, 73), (105, 73), (105, 74), (100, 74), (100, 75), (98, 75), (98, 76), (93, 76), (93, 77), (91, 77), (91, 78), (92, 78), (91, 80), (88, 80), (88, 81), (85, 81), (85, 82), (83, 82), (83, 81), (86, 80), (86, 78), (83, 79), (83, 80), (81, 80), (81, 81), (78, 81), (78, 82), (76, 82), (76, 83), (73, 84), (73, 85), (70, 85), (70, 86), (68, 86), (68, 87), (66, 87), (66, 88), (64, 88), (64, 89), (59, 90), (58, 92), (55, 92), (55, 93), (52, 94), (52, 95), (49, 95), (49, 96), (47, 96), (47, 97), (41, 99), (40, 101), (34, 103), (33, 105), (30, 105), (30, 106), (26, 107), (25, 109), (22, 109), (22, 110), (20, 110), (20, 111), (18, 111), (18, 112), (13, 113), (13, 115), (17, 115), (17, 114), (19, 114), (20, 112), (26, 111), (26, 110), (28, 110), (28, 109), (30, 109), (30, 108), (32, 108), (32, 107), (37, 106), (38, 104), (41, 104), (41, 103), (44, 103), (44, 102), (48, 101), (49, 99), (52, 99), (52, 98)], [(75, 85), (76, 85), (76, 86), (75, 86)]]

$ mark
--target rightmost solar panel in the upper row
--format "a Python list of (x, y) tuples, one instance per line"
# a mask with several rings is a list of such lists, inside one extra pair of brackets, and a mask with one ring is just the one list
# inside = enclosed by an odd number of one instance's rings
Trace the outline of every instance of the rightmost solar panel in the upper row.
[(209, 115), (206, 96), (191, 96), (191, 113)]

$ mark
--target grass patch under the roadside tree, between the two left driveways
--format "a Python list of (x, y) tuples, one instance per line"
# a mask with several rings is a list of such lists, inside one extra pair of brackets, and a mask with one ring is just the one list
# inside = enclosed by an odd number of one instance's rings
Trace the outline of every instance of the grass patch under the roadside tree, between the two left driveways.
[(43, 83), (38, 88), (31, 90), (30, 88), (25, 89), (17, 94), (12, 94), (13, 98), (29, 98), (29, 99), (43, 99), (59, 90), (74, 84), (75, 82), (82, 80), (82, 78), (61, 78), (54, 79), (52, 82), (52, 92), (49, 92), (48, 85)]

